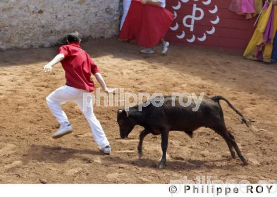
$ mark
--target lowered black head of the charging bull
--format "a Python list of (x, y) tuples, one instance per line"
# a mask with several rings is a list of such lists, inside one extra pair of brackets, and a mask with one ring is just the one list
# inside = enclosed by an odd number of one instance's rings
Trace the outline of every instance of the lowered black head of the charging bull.
[(119, 109), (117, 111), (117, 123), (122, 139), (127, 138), (136, 125), (133, 118), (130, 117), (129, 113), (124, 109)]

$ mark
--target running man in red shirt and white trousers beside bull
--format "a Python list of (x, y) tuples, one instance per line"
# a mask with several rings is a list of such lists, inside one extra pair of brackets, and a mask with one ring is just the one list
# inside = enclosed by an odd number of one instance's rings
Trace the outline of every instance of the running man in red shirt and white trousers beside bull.
[[(102, 152), (109, 154), (111, 152), (110, 143), (93, 113), (92, 105), (84, 105), (85, 103), (92, 103), (92, 97), (84, 97), (84, 94), (94, 90), (92, 74), (106, 93), (111, 93), (114, 90), (107, 88), (96, 64), (90, 55), (80, 47), (79, 33), (73, 32), (67, 35), (66, 40), (68, 45), (61, 46), (59, 54), (44, 66), (45, 71), (51, 71), (52, 66), (61, 62), (66, 78), (66, 85), (56, 89), (46, 98), (49, 109), (60, 124), (58, 131), (52, 135), (52, 138), (57, 139), (73, 131), (61, 104), (67, 101), (75, 102), (91, 126), (94, 141)], [(85, 103), (84, 99), (86, 99)]]

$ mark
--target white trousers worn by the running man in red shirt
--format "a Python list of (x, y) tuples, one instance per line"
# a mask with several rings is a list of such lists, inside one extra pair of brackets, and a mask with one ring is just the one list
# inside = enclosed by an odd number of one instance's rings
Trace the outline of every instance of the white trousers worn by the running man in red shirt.
[(84, 103), (83, 95), (86, 93), (88, 93), (88, 91), (70, 86), (62, 86), (56, 89), (46, 98), (46, 103), (53, 115), (56, 117), (58, 123), (63, 125), (66, 122), (69, 123), (69, 120), (62, 110), (61, 104), (64, 104), (68, 101), (75, 102), (80, 107), (91, 126), (94, 141), (100, 148), (105, 148), (106, 146), (110, 145), (109, 141), (102, 129), (100, 122), (93, 113), (92, 104), (86, 104), (92, 103), (92, 97), (85, 97), (86, 100)]

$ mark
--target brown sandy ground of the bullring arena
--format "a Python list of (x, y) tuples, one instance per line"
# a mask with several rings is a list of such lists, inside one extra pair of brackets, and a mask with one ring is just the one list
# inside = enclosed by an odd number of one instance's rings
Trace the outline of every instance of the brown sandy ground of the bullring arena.
[(277, 180), (277, 65), (177, 46), (171, 46), (166, 56), (142, 55), (135, 44), (116, 39), (89, 42), (83, 48), (109, 87), (164, 95), (204, 92), (230, 99), (255, 121), (250, 130), (221, 101), (226, 124), (250, 164), (242, 166), (239, 159), (231, 159), (225, 141), (200, 128), (193, 139), (182, 132), (170, 133), (167, 165), (159, 170), (160, 136), (145, 138), (144, 156), (139, 159), (142, 128), (135, 127), (127, 140), (121, 140), (118, 108), (103, 105), (95, 106), (94, 112), (111, 142), (111, 155), (99, 152), (85, 117), (73, 103), (63, 109), (75, 131), (53, 140), (58, 124), (45, 98), (64, 85), (64, 73), (60, 65), (51, 73), (42, 67), (57, 48), (11, 50), (0, 52), (0, 183), (170, 183), (183, 176), (195, 180), (197, 175), (252, 183)]

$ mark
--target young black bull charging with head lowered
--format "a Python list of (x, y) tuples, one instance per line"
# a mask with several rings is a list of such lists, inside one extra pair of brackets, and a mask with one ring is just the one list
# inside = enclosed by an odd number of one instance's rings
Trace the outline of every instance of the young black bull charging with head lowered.
[[(141, 111), (139, 111), (139, 105), (131, 107), (128, 112), (123, 109), (118, 110), (117, 122), (121, 138), (127, 138), (136, 125), (144, 127), (144, 130), (139, 135), (139, 157), (142, 156), (144, 137), (150, 133), (153, 135), (161, 134), (163, 155), (159, 168), (163, 168), (166, 163), (169, 131), (184, 131), (192, 138), (194, 130), (200, 127), (207, 127), (223, 137), (230, 149), (232, 158), (235, 158), (236, 151), (243, 164), (247, 165), (247, 159), (242, 155), (233, 135), (226, 128), (219, 100), (225, 100), (241, 116), (242, 122), (247, 126), (250, 125), (250, 121), (244, 118), (229, 100), (221, 96), (202, 99), (199, 109), (192, 111), (192, 108), (196, 106), (193, 100), (189, 106), (184, 107), (179, 103), (178, 97), (175, 98), (175, 106), (172, 106), (172, 99), (173, 97), (170, 96), (164, 97), (164, 103), (160, 107), (154, 106), (151, 102), (148, 106), (142, 107)], [(184, 99), (184, 103), (186, 101)]]

